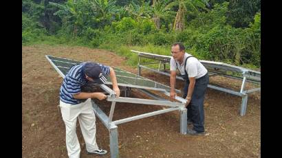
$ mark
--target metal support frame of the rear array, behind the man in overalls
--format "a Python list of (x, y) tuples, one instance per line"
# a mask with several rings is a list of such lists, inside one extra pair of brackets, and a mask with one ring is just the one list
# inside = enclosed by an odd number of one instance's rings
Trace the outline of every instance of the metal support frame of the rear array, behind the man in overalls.
[[(146, 65), (146, 63), (140, 63), (141, 58), (150, 58), (150, 59), (155, 59), (155, 60), (160, 60), (160, 64), (163, 63), (164, 67), (166, 64), (169, 64), (169, 60), (171, 59), (171, 56), (164, 56), (164, 55), (158, 55), (158, 54), (150, 54), (147, 52), (139, 52), (139, 51), (135, 51), (135, 50), (131, 50), (131, 52), (134, 52), (136, 54), (138, 54), (139, 57), (139, 62), (138, 62), (138, 74), (141, 76), (141, 69), (149, 69), (150, 71), (156, 72), (158, 74), (163, 74), (166, 76), (170, 76), (169, 73), (162, 71), (160, 69), (160, 66), (158, 69), (152, 69), (150, 67), (144, 66)], [(224, 91), (226, 93), (230, 93), (232, 95), (237, 95), (239, 97), (242, 98), (242, 102), (241, 102), (241, 108), (240, 108), (240, 115), (246, 115), (246, 109), (247, 109), (247, 102), (248, 102), (248, 93), (253, 93), (255, 91), (261, 91), (261, 88), (254, 88), (254, 89), (248, 89), (246, 91), (244, 91), (243, 89), (245, 88), (246, 82), (254, 82), (257, 84), (260, 84), (260, 72), (259, 71), (252, 71), (250, 69), (246, 69), (243, 67), (237, 67), (234, 65), (228, 65), (226, 63), (218, 63), (218, 62), (213, 62), (213, 61), (207, 61), (207, 60), (200, 60), (200, 62), (206, 66), (206, 67), (210, 67), (212, 69), (218, 69), (218, 72), (215, 71), (209, 71), (209, 74), (212, 75), (219, 75), (219, 76), (224, 76), (227, 78), (235, 78), (237, 80), (242, 80), (241, 83), (241, 89), (239, 91), (235, 91), (232, 89), (226, 89), (224, 87), (218, 87), (215, 86), (213, 84), (208, 84), (208, 88), (211, 89), (215, 89), (217, 91)], [(165, 70), (165, 69), (164, 69)], [(241, 74), (241, 76), (243, 76), (243, 78), (239, 78), (236, 76), (228, 76), (228, 74), (220, 74), (221, 71), (232, 71), (232, 72), (236, 72)], [(179, 80), (183, 80), (183, 78), (181, 78), (180, 76), (176, 76), (177, 79)]]

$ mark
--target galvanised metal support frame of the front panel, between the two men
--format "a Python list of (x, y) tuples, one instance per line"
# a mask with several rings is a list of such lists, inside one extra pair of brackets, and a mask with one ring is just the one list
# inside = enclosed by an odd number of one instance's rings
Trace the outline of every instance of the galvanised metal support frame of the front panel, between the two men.
[[(113, 93), (113, 91), (107, 87), (105, 84), (100, 84), (100, 87), (107, 91), (108, 93)], [(130, 89), (128, 89), (130, 90)], [(138, 89), (143, 92), (147, 92), (147, 94), (151, 93), (144, 89)], [(169, 92), (163, 92), (166, 93), (166, 95)], [(94, 109), (94, 113), (98, 116), (98, 118), (101, 120), (102, 124), (106, 126), (106, 128), (109, 130), (109, 139), (110, 139), (110, 152), (111, 157), (118, 157), (118, 124), (122, 124), (125, 122), (131, 122), (134, 120), (139, 120), (145, 117), (151, 117), (153, 115), (160, 115), (162, 113), (168, 113), (171, 111), (180, 111), (180, 133), (186, 134), (187, 129), (187, 109), (184, 108), (184, 100), (177, 98), (180, 102), (170, 102), (169, 100), (165, 100), (164, 98), (161, 98), (159, 95), (156, 95), (154, 93), (151, 93), (151, 96), (154, 96), (154, 98), (157, 98), (158, 100), (147, 100), (147, 99), (139, 99), (139, 98), (123, 98), (119, 97), (116, 98), (116, 95), (108, 95), (107, 101), (111, 102), (111, 110), (109, 113), (109, 117), (99, 108), (98, 104), (96, 104), (93, 100), (91, 100), (91, 104)], [(133, 117), (127, 117), (121, 120), (115, 120), (112, 121), (113, 118), (113, 112), (116, 105), (116, 102), (130, 102), (133, 104), (153, 104), (153, 105), (163, 105), (163, 106), (171, 106), (168, 109), (162, 109), (159, 111), (153, 111), (151, 113), (144, 113), (141, 115), (135, 115)]]

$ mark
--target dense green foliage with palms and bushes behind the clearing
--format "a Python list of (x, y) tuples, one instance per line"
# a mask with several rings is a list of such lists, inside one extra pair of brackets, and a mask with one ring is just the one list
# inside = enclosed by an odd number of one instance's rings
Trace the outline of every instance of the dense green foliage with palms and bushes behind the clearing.
[(180, 41), (200, 59), (259, 68), (260, 5), (258, 0), (23, 0), (22, 43), (87, 45), (133, 58), (129, 48), (169, 55), (171, 44)]

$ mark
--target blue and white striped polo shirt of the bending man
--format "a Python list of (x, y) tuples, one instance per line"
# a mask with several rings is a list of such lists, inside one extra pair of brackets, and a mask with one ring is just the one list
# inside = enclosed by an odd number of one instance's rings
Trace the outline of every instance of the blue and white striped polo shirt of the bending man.
[[(102, 72), (109, 75), (109, 67), (99, 64)], [(84, 72), (85, 63), (74, 65), (69, 69), (65, 76), (60, 89), (60, 100), (67, 104), (79, 104), (80, 100), (76, 100), (73, 94), (80, 93), (80, 87), (87, 82)]]

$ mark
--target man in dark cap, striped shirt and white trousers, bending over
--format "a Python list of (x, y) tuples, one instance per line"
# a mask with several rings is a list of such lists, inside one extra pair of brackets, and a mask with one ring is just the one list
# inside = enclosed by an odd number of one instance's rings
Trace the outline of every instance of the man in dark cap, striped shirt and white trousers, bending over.
[[(100, 92), (82, 92), (80, 87), (88, 81), (103, 84), (109, 75), (113, 91), (119, 97), (120, 89), (116, 81), (116, 74), (109, 66), (98, 63), (81, 63), (69, 69), (60, 89), (60, 107), (65, 122), (65, 142), (67, 155), (71, 158), (80, 157), (80, 144), (76, 135), (76, 120), (80, 124), (83, 138), (85, 139), (86, 153), (105, 155), (107, 150), (98, 148), (96, 143), (96, 117), (91, 106), (91, 98), (104, 100), (107, 95)], [(83, 99), (85, 100), (83, 102)]]

